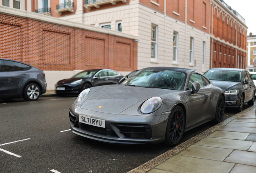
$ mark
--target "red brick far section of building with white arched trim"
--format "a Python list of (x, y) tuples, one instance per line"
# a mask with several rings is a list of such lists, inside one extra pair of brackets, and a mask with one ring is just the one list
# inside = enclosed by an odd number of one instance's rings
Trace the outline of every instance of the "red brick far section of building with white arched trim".
[[(213, 14), (213, 24), (211, 23), (211, 27), (213, 27), (213, 35), (215, 38), (220, 38), (220, 40), (225, 40), (229, 44), (233, 44), (233, 46), (237, 45), (239, 48), (246, 50), (246, 42), (247, 42), (247, 34), (244, 30), (244, 26), (239, 23), (235, 23), (233, 21), (233, 16), (230, 14), (225, 14), (224, 11), (221, 11), (220, 7), (215, 8), (215, 5), (211, 5), (211, 14)], [(219, 13), (219, 16), (218, 16)], [(211, 19), (212, 20), (212, 19)], [(236, 35), (237, 34), (237, 35)], [(237, 37), (236, 37), (237, 36)], [(217, 50), (215, 50), (215, 44), (217, 45)], [(230, 48), (230, 56), (229, 50)], [(215, 51), (216, 52), (215, 52)], [(226, 50), (226, 56), (225, 56)], [(239, 55), (239, 61), (237, 58)], [(241, 55), (242, 55), (242, 65), (241, 65)], [(233, 48), (228, 44), (224, 44), (223, 42), (219, 42), (218, 40), (214, 40), (213, 43), (213, 64), (212, 67), (231, 67), (231, 68), (246, 68), (247, 60), (246, 53), (240, 51), (239, 49)], [(211, 67), (211, 62), (210, 62)]]

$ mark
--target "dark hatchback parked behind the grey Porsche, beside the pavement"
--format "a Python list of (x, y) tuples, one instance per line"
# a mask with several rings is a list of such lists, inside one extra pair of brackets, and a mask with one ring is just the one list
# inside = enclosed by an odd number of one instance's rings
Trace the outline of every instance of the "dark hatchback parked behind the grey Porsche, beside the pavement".
[(244, 104), (254, 104), (255, 86), (251, 75), (245, 69), (211, 68), (204, 75), (220, 87), (226, 97), (226, 107), (237, 107), (242, 111)]

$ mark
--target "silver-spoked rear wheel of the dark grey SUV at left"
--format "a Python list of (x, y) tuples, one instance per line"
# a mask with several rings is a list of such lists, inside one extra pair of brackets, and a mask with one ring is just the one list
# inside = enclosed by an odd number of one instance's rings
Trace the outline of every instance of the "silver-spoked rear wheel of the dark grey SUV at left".
[(40, 88), (37, 84), (28, 84), (23, 91), (23, 99), (26, 101), (36, 101), (40, 96)]

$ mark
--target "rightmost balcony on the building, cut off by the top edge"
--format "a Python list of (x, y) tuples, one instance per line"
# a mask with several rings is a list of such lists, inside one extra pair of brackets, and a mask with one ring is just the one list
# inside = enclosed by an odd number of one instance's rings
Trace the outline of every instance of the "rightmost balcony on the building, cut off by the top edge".
[(87, 10), (91, 10), (91, 7), (99, 8), (101, 5), (112, 4), (116, 5), (116, 2), (122, 1), (126, 3), (127, 0), (85, 0), (84, 7)]

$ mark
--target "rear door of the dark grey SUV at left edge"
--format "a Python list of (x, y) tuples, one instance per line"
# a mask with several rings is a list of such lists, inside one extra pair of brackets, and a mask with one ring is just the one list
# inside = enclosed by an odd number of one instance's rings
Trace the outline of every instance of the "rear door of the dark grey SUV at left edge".
[(22, 87), (29, 78), (23, 64), (10, 60), (3, 60), (2, 69), (2, 96), (17, 97), (22, 94)]

